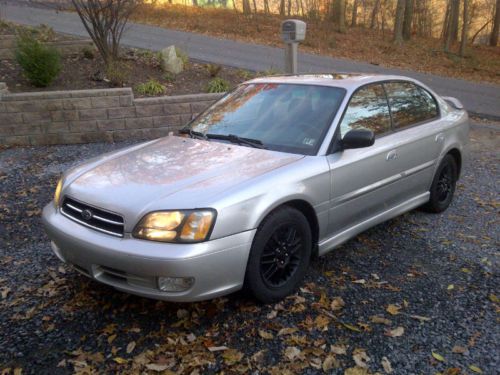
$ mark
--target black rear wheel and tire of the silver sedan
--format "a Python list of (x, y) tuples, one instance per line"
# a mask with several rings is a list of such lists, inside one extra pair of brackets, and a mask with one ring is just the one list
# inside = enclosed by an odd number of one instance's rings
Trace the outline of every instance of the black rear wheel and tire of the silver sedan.
[(446, 155), (439, 164), (430, 189), (430, 198), (422, 208), (431, 213), (440, 213), (450, 205), (458, 177), (458, 168), (455, 158)]

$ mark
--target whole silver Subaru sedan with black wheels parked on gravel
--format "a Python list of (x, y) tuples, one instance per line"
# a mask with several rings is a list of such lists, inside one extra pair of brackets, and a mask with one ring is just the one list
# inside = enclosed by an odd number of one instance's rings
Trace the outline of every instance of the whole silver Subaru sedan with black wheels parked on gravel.
[(410, 78), (324, 74), (239, 85), (177, 135), (64, 173), (54, 253), (140, 296), (262, 302), (311, 257), (406, 211), (445, 210), (467, 158), (460, 102)]

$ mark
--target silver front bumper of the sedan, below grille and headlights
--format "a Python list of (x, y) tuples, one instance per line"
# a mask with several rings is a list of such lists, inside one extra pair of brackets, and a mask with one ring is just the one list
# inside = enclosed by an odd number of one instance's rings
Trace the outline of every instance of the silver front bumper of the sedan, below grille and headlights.
[[(43, 225), (54, 253), (86, 276), (143, 297), (192, 302), (241, 289), (255, 230), (197, 243), (172, 244), (116, 238), (61, 215), (53, 203), (43, 210)], [(163, 292), (157, 278), (190, 277), (182, 292)]]

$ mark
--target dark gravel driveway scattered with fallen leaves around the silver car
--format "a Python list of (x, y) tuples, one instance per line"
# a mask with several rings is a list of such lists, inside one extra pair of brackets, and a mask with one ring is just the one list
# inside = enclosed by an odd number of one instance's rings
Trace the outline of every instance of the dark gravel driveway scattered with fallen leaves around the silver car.
[(448, 211), (365, 232), (268, 306), (134, 297), (56, 259), (40, 210), (59, 174), (125, 144), (0, 151), (0, 373), (497, 373), (499, 129), (474, 127)]

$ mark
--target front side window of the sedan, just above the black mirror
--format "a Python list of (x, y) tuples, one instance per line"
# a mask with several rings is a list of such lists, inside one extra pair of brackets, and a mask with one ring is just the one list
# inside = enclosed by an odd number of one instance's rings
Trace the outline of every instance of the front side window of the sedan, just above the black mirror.
[(375, 135), (391, 130), (389, 105), (381, 84), (365, 86), (351, 97), (340, 123), (341, 137), (352, 129), (368, 129)]

